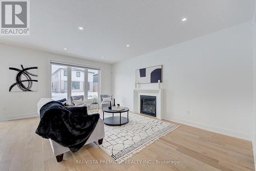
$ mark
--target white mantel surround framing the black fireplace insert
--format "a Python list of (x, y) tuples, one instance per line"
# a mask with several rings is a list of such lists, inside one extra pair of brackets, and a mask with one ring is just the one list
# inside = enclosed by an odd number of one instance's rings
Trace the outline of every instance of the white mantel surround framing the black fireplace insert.
[(163, 112), (163, 95), (162, 89), (134, 89), (134, 96), (133, 96), (133, 110), (135, 113), (140, 113), (140, 96), (156, 96), (157, 99), (157, 109), (156, 109), (156, 118), (162, 119), (162, 112)]

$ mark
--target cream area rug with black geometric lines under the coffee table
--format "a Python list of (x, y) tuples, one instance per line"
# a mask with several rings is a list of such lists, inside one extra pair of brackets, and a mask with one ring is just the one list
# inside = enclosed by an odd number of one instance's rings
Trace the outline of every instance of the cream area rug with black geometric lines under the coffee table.
[[(110, 116), (112, 114), (105, 113), (105, 118)], [(129, 113), (129, 122), (124, 125), (104, 124), (103, 143), (96, 144), (117, 163), (122, 163), (177, 127), (179, 125)]]

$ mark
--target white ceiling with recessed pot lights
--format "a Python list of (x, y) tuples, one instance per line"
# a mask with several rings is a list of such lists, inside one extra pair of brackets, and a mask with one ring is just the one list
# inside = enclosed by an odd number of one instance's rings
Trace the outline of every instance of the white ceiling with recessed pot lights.
[(0, 42), (114, 63), (248, 22), (253, 7), (254, 0), (33, 0), (30, 36)]

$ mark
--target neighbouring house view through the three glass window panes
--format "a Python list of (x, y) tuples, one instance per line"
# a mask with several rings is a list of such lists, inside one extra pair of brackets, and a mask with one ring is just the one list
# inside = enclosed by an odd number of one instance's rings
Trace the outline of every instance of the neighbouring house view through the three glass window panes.
[[(72, 68), (71, 73), (71, 88), (72, 92), (83, 92), (84, 70)], [(52, 92), (67, 93), (68, 90), (68, 69), (59, 68), (52, 73)], [(88, 71), (88, 92), (98, 92), (98, 73)]]

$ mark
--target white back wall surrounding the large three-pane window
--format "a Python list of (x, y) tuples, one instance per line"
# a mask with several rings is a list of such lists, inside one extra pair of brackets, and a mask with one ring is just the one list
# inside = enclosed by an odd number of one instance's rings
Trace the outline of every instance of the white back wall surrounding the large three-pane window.
[[(112, 66), (106, 63), (0, 44), (0, 121), (36, 116), (37, 102), (50, 95), (49, 60), (101, 67), (101, 93), (111, 94)], [(9, 65), (38, 67), (38, 92), (9, 92)]]

